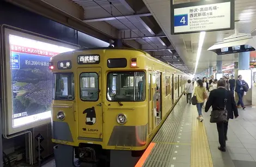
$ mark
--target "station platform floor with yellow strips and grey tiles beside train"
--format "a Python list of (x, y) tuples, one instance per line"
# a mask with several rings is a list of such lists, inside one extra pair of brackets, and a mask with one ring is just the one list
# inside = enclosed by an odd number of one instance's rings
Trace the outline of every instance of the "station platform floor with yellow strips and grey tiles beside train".
[[(204, 111), (204, 110), (203, 110)], [(239, 109), (239, 117), (229, 121), (227, 151), (218, 150), (216, 123), (210, 110), (197, 120), (197, 108), (182, 96), (136, 167), (255, 167), (256, 108)]]

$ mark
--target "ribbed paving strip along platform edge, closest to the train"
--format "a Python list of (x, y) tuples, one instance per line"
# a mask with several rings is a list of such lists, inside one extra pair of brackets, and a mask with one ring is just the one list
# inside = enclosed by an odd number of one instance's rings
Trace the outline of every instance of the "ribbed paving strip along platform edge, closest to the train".
[(170, 166), (169, 160), (174, 149), (174, 141), (179, 133), (182, 116), (186, 108), (186, 99), (181, 97), (166, 121), (163, 123), (159, 132), (152, 140), (156, 143), (149, 157), (145, 160), (143, 166), (164, 167)]

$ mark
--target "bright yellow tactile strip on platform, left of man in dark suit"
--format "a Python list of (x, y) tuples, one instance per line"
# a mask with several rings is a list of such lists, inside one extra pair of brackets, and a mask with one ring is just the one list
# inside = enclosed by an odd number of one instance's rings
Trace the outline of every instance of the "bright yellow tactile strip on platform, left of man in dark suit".
[(213, 167), (208, 138), (204, 122), (197, 120), (197, 108), (193, 106), (191, 137), (191, 167)]

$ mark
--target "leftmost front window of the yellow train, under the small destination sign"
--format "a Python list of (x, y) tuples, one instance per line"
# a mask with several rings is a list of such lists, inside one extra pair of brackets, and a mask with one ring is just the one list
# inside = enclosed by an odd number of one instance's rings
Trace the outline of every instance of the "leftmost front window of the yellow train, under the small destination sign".
[(74, 100), (74, 73), (54, 73), (54, 100)]

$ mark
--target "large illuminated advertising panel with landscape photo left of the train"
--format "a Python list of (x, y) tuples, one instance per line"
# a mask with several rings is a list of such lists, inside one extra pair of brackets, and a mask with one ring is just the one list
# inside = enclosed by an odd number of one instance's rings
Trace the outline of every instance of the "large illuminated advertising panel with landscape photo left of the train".
[(79, 47), (63, 46), (60, 42), (56, 45), (56, 41), (33, 38), (32, 35), (26, 36), (13, 30), (5, 32), (9, 32), (5, 33), (5, 38), (8, 38), (5, 39), (8, 40), (5, 48), (9, 50), (6, 57), (9, 56), (7, 61), (10, 63), (10, 76), (7, 72), (7, 80), (11, 85), (11, 94), (8, 93), (11, 96), (8, 98), (11, 100), (9, 119), (12, 113), (7, 133), (15, 133), (50, 122), (53, 97), (53, 75), (48, 69), (50, 58)]

